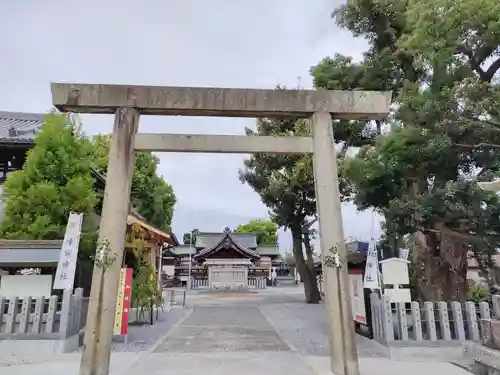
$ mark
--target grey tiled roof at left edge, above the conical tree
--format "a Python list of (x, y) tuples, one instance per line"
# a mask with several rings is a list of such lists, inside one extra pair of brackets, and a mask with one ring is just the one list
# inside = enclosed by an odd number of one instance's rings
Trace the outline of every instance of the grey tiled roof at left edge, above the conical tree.
[(32, 143), (45, 119), (42, 113), (0, 111), (0, 141)]

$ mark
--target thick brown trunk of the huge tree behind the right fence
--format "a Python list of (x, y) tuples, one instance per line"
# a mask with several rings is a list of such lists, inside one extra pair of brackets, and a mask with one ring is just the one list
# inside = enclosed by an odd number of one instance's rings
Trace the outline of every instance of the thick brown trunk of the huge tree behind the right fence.
[(467, 245), (442, 224), (414, 235), (412, 263), (423, 301), (463, 301), (467, 297)]

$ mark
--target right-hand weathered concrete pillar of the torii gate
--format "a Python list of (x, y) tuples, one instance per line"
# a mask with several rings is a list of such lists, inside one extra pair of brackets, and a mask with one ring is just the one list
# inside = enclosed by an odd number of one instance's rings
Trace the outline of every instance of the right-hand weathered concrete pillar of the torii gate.
[[(359, 375), (332, 119), (328, 112), (316, 112), (311, 120), (331, 371)], [(335, 253), (340, 265), (334, 262)]]

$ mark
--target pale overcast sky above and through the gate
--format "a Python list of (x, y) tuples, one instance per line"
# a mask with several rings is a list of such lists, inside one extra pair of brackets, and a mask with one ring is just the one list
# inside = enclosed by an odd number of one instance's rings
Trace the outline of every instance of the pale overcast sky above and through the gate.
[[(363, 40), (336, 27), (338, 0), (0, 0), (0, 110), (46, 112), (49, 82), (274, 88), (312, 86), (309, 68)], [(111, 116), (82, 116), (87, 134)], [(150, 133), (243, 134), (254, 120), (142, 117)], [(244, 155), (160, 154), (178, 203), (174, 233), (220, 231), (267, 209), (237, 170)], [(372, 214), (344, 207), (347, 236), (368, 239)], [(376, 220), (378, 235), (378, 220)], [(283, 250), (290, 247), (280, 233)]]

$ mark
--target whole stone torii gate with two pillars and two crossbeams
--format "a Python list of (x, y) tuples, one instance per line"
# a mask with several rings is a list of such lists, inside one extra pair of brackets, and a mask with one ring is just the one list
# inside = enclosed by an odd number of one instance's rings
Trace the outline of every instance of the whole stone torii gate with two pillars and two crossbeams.
[[(332, 117), (380, 120), (389, 92), (257, 90), (52, 83), (62, 112), (115, 114), (99, 232), (117, 260), (96, 262), (80, 375), (107, 375), (134, 151), (312, 154), (328, 311), (331, 370), (358, 375)], [(137, 134), (140, 115), (310, 118), (312, 137)], [(101, 253), (102, 255), (102, 253)]]

